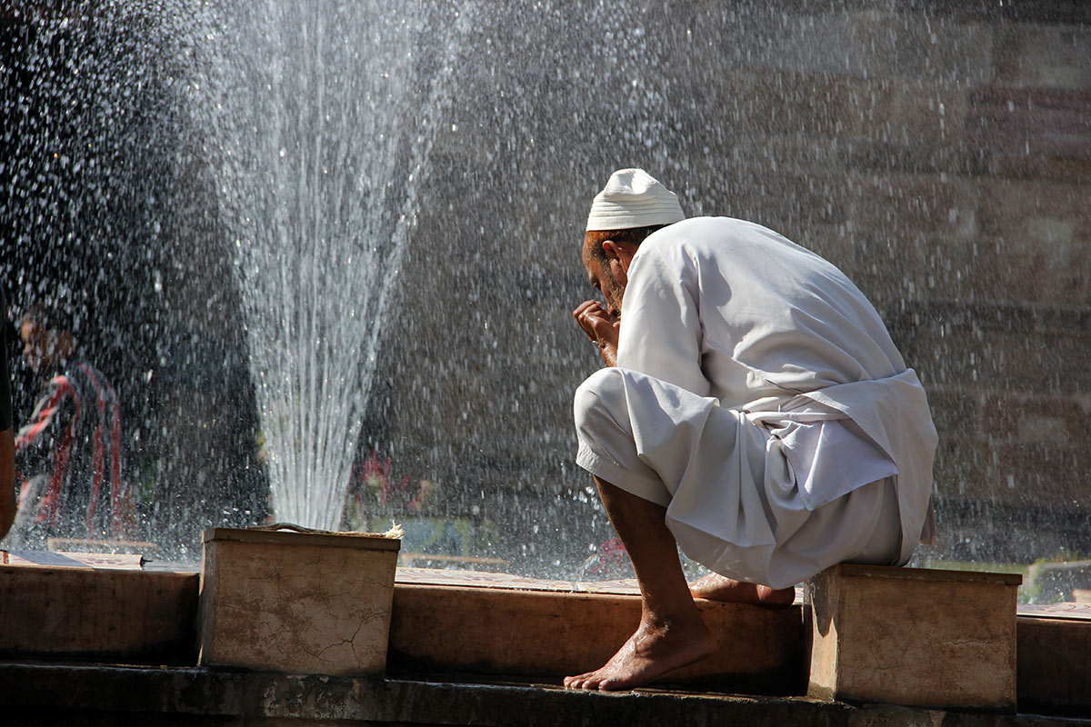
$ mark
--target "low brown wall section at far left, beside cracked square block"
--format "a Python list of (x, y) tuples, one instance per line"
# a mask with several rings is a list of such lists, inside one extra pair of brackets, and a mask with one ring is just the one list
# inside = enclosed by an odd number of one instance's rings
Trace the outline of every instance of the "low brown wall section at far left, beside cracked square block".
[(193, 664), (197, 574), (0, 566), (0, 655)]

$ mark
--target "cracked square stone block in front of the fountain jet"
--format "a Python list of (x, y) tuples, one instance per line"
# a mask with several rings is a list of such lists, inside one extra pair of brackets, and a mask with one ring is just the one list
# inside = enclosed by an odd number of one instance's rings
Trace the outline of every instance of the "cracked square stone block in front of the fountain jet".
[(399, 546), (380, 536), (205, 531), (200, 663), (382, 674)]

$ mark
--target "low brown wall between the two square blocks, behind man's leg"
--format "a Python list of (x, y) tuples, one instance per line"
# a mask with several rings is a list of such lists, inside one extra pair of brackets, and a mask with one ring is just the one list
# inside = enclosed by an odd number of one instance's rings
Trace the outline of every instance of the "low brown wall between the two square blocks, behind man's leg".
[[(717, 652), (663, 681), (751, 693), (802, 692), (799, 606), (699, 599)], [(389, 665), (411, 671), (562, 677), (602, 666), (640, 620), (637, 595), (398, 583)]]

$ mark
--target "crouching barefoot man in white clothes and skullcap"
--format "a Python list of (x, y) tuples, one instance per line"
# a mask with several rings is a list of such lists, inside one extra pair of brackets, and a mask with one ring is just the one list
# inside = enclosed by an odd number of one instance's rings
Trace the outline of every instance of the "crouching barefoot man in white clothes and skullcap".
[[(603, 303), (574, 315), (606, 368), (575, 396), (589, 471), (640, 585), (640, 626), (574, 689), (630, 689), (716, 647), (693, 597), (792, 602), (839, 562), (903, 565), (932, 536), (936, 431), (863, 293), (759, 225), (685, 219), (640, 169), (596, 196)], [(712, 572), (687, 584), (678, 547)]]

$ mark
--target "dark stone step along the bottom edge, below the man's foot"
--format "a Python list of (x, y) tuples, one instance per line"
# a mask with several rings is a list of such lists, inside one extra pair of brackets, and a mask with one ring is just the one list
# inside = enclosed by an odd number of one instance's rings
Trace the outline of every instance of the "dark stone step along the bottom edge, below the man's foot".
[(1071, 727), (1089, 719), (850, 706), (802, 698), (738, 698), (660, 690), (568, 692), (495, 684), (0, 663), (4, 724), (341, 724), (582, 727), (584, 725), (825, 725), (827, 727)]

